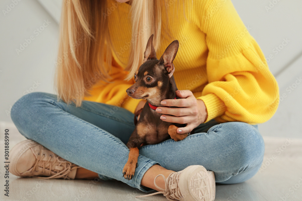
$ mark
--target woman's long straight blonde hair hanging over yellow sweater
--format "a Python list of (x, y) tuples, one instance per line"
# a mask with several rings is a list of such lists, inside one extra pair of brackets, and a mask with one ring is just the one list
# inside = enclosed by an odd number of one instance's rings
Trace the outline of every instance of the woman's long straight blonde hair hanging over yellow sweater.
[[(152, 33), (154, 48), (158, 49), (163, 31), (162, 5), (165, 9), (169, 7), (162, 0), (131, 0), (130, 3), (132, 39), (129, 61), (125, 64), (129, 74), (125, 80), (130, 80), (143, 63), (146, 44)], [(90, 96), (88, 90), (93, 84), (111, 79), (111, 50), (116, 50), (108, 32), (108, 6), (111, 5), (107, 5), (106, 0), (63, 0), (54, 82), (58, 100), (81, 106), (83, 97)], [(169, 29), (165, 32), (172, 37)]]

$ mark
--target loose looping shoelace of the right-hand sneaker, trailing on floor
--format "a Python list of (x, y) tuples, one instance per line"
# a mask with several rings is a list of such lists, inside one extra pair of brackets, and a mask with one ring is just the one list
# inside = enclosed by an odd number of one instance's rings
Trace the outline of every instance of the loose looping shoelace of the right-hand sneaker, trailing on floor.
[[(156, 185), (155, 181), (156, 178), (159, 176), (162, 176), (165, 181), (165, 189), (162, 189)], [(164, 175), (159, 174), (154, 179), (154, 185), (156, 186), (156, 188), (158, 188), (161, 191), (156, 193), (151, 193), (148, 195), (136, 196), (136, 197), (147, 197), (147, 196), (153, 196), (162, 193), (164, 196), (166, 196), (168, 200), (179, 200), (180, 198), (183, 198), (183, 196), (178, 188), (178, 178), (179, 178), (179, 172), (172, 172), (171, 174), (169, 174), (167, 179), (165, 178)]]

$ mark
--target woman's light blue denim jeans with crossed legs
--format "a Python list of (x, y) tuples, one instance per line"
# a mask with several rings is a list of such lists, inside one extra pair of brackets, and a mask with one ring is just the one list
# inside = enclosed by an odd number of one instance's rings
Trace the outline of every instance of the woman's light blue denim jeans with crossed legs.
[(172, 139), (140, 148), (132, 180), (122, 176), (134, 130), (134, 115), (114, 105), (83, 101), (81, 107), (57, 101), (54, 94), (33, 92), (22, 96), (11, 109), (19, 132), (63, 159), (98, 173), (102, 180), (116, 179), (144, 192), (145, 172), (155, 164), (173, 171), (203, 165), (214, 171), (221, 184), (236, 184), (259, 170), (264, 142), (257, 125), (244, 122), (200, 124), (182, 141)]

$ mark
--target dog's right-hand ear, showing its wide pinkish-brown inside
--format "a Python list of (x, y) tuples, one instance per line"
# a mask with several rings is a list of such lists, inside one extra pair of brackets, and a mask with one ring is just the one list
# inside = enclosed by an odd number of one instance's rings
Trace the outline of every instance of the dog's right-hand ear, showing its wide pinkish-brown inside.
[(166, 48), (165, 52), (162, 54), (162, 56), (159, 59), (159, 61), (161, 61), (165, 65), (165, 68), (169, 73), (169, 78), (172, 77), (172, 75), (175, 71), (173, 60), (174, 60), (174, 58), (176, 56), (176, 53), (178, 51), (178, 47), (179, 47), (178, 40), (174, 40)]

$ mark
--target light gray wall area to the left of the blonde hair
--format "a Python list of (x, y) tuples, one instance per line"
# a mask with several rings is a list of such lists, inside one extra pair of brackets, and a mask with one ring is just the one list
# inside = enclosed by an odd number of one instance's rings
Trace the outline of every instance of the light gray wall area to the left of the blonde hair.
[(54, 93), (58, 24), (36, 0), (13, 5), (0, 1), (0, 121), (11, 121), (11, 106), (27, 91)]

